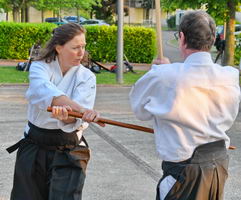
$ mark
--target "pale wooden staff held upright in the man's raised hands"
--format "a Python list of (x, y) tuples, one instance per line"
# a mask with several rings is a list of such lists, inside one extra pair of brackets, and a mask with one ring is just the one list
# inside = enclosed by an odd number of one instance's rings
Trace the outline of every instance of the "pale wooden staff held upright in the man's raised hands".
[(162, 28), (161, 28), (161, 5), (160, 0), (155, 0), (156, 4), (156, 36), (157, 36), (157, 58), (163, 58), (162, 50)]

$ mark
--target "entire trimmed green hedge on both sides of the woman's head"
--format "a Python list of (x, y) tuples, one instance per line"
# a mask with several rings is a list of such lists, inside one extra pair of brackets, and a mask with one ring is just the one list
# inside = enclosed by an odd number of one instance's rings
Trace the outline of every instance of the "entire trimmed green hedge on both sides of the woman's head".
[[(0, 23), (0, 58), (27, 59), (37, 41), (44, 44), (56, 25), (50, 23)], [(115, 62), (116, 26), (86, 26), (87, 47), (96, 61)], [(124, 27), (124, 54), (130, 62), (150, 63), (155, 56), (155, 31), (152, 28)]]

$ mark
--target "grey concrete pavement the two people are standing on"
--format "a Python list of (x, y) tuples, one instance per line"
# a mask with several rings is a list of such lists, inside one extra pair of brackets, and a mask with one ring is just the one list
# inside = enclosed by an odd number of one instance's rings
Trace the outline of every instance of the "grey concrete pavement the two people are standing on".
[[(98, 87), (96, 109), (102, 117), (151, 127), (131, 112), (130, 87)], [(0, 87), (0, 200), (8, 200), (12, 186), (15, 153), (5, 148), (18, 141), (26, 120), (26, 86)], [(241, 115), (229, 131), (232, 145), (229, 151), (229, 178), (225, 200), (241, 199)], [(107, 125), (91, 125), (85, 136), (92, 149), (87, 169), (83, 200), (153, 200), (161, 176), (152, 134)]]

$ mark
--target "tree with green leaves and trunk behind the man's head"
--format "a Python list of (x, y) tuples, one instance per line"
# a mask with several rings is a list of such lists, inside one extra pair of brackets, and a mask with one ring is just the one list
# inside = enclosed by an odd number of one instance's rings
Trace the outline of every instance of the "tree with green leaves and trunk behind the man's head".
[(234, 64), (235, 12), (239, 11), (240, 5), (240, 0), (161, 0), (162, 9), (165, 11), (205, 8), (216, 24), (227, 23), (225, 56), (222, 62), (224, 65)]

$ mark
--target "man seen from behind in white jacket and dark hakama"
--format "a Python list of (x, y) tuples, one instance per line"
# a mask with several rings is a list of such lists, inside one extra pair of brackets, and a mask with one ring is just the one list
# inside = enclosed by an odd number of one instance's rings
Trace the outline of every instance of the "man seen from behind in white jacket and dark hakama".
[(156, 199), (221, 200), (228, 176), (226, 131), (240, 102), (239, 71), (213, 63), (215, 23), (207, 13), (184, 15), (177, 36), (184, 63), (154, 60), (132, 88), (131, 106), (137, 118), (153, 121), (163, 160)]

